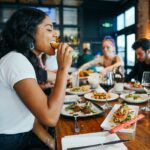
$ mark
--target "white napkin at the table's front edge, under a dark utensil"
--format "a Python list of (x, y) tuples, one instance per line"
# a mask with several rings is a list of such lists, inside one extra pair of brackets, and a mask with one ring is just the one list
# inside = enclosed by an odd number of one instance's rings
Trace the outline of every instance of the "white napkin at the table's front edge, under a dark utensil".
[[(72, 136), (65, 136), (62, 138), (62, 150), (67, 148), (73, 148), (78, 146), (88, 146), (93, 144), (100, 144), (104, 142), (110, 142), (119, 140), (116, 134), (110, 134), (108, 132), (97, 132), (88, 134), (79, 134)], [(105, 146), (88, 147), (87, 150), (127, 150), (127, 147), (123, 143), (111, 144)]]

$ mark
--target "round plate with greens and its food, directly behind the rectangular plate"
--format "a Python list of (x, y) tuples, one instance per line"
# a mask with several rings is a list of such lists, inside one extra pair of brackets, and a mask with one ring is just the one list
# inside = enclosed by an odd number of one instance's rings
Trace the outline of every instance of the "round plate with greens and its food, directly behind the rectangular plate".
[(150, 97), (147, 94), (122, 94), (120, 98), (129, 103), (143, 103)]

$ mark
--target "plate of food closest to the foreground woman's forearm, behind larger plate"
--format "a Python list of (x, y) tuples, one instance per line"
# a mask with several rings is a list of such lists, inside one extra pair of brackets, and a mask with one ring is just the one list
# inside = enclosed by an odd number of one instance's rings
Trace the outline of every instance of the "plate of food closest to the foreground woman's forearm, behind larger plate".
[(91, 89), (90, 89), (90, 86), (88, 85), (66, 89), (66, 92), (68, 94), (74, 94), (74, 95), (83, 95), (90, 91)]

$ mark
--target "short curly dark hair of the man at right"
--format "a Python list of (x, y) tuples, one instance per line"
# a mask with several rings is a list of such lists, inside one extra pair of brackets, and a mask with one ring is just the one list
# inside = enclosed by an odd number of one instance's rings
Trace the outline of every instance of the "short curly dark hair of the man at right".
[(142, 48), (144, 51), (150, 49), (150, 40), (141, 38), (133, 43), (132, 48), (136, 50), (137, 48)]

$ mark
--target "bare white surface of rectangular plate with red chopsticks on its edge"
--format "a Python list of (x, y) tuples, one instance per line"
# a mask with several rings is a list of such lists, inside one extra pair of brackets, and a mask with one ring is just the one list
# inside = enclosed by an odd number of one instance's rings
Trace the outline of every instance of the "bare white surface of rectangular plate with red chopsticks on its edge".
[[(109, 114), (107, 115), (107, 117), (105, 118), (105, 120), (102, 122), (101, 127), (104, 130), (110, 130), (112, 127), (116, 126), (117, 124), (112, 122), (112, 116), (114, 114), (114, 112), (120, 107), (120, 104), (115, 104), (114, 107), (112, 108), (112, 110), (109, 112)], [(129, 108), (131, 110), (134, 111), (134, 115), (136, 116), (138, 114), (139, 111), (139, 106), (133, 106), (133, 105), (128, 105)], [(119, 132), (127, 132), (127, 133), (133, 133), (136, 129), (136, 123), (133, 124), (130, 128), (123, 128), (120, 129)]]

